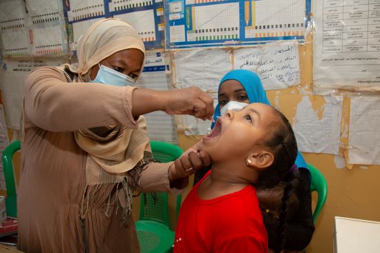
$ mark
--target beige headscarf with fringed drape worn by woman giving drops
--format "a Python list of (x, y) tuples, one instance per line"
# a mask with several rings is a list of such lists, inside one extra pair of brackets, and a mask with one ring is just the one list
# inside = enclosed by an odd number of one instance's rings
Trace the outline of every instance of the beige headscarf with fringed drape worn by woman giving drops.
[[(145, 53), (144, 43), (135, 29), (119, 19), (102, 19), (94, 23), (79, 39), (78, 63), (65, 64), (58, 68), (69, 69), (70, 72), (78, 74), (72, 81), (83, 82), (84, 75), (88, 74), (93, 65), (115, 52), (129, 48), (137, 48)], [(68, 76), (67, 71), (66, 76)], [(99, 190), (100, 186), (106, 194), (110, 194), (106, 203), (108, 208), (105, 210), (106, 215), (110, 215), (111, 190), (116, 186), (117, 197), (113, 201), (123, 208), (124, 221), (128, 223), (133, 188), (138, 183), (144, 164), (151, 160), (145, 118), (140, 116), (137, 123), (139, 128), (135, 130), (125, 128), (124, 125), (110, 125), (96, 130), (85, 129), (75, 132), (75, 141), (88, 152), (82, 219), (91, 206), (91, 193)], [(132, 170), (133, 168), (135, 170)]]

